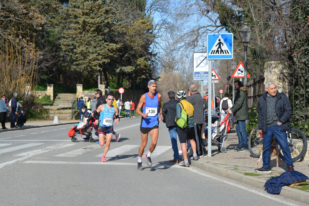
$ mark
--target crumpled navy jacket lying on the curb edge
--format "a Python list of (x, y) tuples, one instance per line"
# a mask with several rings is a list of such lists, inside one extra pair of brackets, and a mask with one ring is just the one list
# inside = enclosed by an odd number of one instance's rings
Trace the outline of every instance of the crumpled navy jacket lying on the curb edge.
[(266, 181), (264, 187), (266, 187), (266, 190), (269, 194), (279, 195), (283, 186), (287, 186), (290, 183), (302, 181), (305, 179), (308, 179), (308, 177), (303, 173), (298, 171), (289, 171), (280, 174), (280, 176), (271, 177)]

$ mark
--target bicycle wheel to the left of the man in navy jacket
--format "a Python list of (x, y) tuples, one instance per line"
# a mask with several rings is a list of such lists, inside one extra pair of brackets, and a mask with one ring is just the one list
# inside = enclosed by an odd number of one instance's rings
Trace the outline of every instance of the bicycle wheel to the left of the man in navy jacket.
[(259, 128), (255, 127), (252, 129), (248, 139), (248, 149), (250, 154), (259, 158), (261, 154), (261, 150), (263, 149), (263, 138), (261, 138), (259, 134)]

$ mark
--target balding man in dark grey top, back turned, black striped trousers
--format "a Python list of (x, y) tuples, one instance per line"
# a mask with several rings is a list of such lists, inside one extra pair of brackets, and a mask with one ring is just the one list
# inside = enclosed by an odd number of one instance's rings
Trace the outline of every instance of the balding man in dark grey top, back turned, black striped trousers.
[(194, 108), (194, 141), (196, 143), (197, 148), (197, 157), (202, 158), (203, 155), (203, 147), (202, 147), (202, 127), (204, 124), (204, 99), (199, 92), (197, 92), (197, 87), (194, 84), (189, 86), (190, 94), (187, 97), (187, 101), (193, 105)]

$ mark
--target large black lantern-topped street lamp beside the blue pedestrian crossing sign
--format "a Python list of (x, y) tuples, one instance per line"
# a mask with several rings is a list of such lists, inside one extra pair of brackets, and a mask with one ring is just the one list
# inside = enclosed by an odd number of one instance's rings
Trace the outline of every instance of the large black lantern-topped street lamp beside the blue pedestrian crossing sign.
[(240, 35), (240, 40), (243, 43), (243, 53), (244, 53), (244, 71), (243, 71), (243, 85), (244, 86), (248, 86), (248, 69), (247, 69), (247, 48), (248, 48), (248, 44), (250, 42), (251, 39), (251, 33), (252, 31), (250, 30), (250, 28), (247, 26), (247, 23), (243, 24), (243, 27), (241, 28), (241, 30), (239, 31), (239, 35)]

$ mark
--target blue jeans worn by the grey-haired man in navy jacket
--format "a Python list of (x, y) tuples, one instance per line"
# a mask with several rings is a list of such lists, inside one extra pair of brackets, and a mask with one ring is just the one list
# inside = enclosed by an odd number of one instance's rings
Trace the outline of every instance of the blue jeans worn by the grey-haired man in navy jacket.
[(270, 168), (270, 147), (273, 135), (279, 143), (280, 149), (282, 150), (284, 161), (286, 162), (286, 167), (294, 167), (293, 160), (291, 157), (290, 148), (286, 140), (286, 132), (281, 132), (282, 125), (276, 124), (272, 127), (267, 127), (267, 134), (263, 133), (263, 168)]

